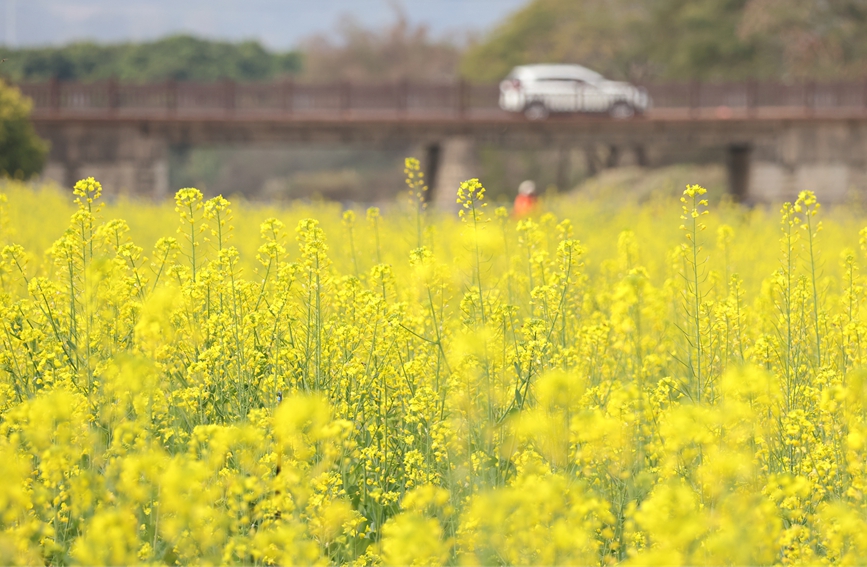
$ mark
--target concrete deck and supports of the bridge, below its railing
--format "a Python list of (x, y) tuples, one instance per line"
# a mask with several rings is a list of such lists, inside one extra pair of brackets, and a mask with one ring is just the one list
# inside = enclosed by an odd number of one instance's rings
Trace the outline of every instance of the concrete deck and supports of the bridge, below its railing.
[[(867, 112), (863, 108), (857, 115), (826, 118), (648, 117), (539, 123), (514, 117), (475, 122), (469, 118), (317, 121), (293, 116), (271, 120), (267, 116), (241, 119), (231, 113), (181, 120), (171, 114), (134, 117), (105, 112), (64, 116), (45, 111), (35, 120), (40, 135), (51, 143), (46, 177), (71, 187), (93, 175), (102, 181), (108, 196), (161, 199), (170, 196), (168, 158), (173, 147), (418, 145), (424, 148), (431, 204), (455, 210), (459, 184), (480, 175), (477, 145), (484, 144), (511, 152), (547, 152), (539, 162), (550, 168), (547, 182), (563, 185), (561, 190), (571, 183), (572, 163), (582, 161), (583, 154), (587, 175), (627, 165), (726, 164), (730, 191), (735, 199), (748, 203), (791, 201), (803, 190), (814, 191), (827, 204), (867, 201)], [(509, 165), (519, 166), (510, 168), (512, 177), (519, 175), (515, 172), (523, 165)]]

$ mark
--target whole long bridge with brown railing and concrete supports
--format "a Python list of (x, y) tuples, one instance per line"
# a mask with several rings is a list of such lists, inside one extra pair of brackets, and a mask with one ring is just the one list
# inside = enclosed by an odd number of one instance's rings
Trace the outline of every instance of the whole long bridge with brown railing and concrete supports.
[(642, 116), (537, 122), (502, 111), (498, 85), (463, 81), (18, 87), (51, 142), (47, 177), (71, 185), (94, 175), (109, 190), (154, 198), (169, 194), (173, 148), (286, 143), (421, 148), (433, 194), (444, 202), (460, 180), (476, 176), (474, 146), (482, 142), (580, 149), (591, 172), (718, 161), (735, 198), (752, 202), (803, 189), (842, 202), (867, 189), (867, 82), (646, 85), (653, 106)]

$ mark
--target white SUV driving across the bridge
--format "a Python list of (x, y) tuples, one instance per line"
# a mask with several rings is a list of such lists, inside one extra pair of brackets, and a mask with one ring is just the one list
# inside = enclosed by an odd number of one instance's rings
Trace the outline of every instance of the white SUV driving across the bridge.
[(609, 81), (581, 65), (522, 65), (500, 83), (500, 108), (530, 120), (551, 112), (607, 112), (626, 119), (649, 107), (645, 89)]

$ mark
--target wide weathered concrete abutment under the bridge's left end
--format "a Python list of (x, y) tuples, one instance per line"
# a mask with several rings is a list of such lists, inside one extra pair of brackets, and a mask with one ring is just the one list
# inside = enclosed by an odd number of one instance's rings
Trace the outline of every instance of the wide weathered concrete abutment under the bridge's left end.
[(110, 196), (135, 195), (164, 199), (169, 194), (169, 144), (148, 124), (122, 128), (66, 125), (43, 128), (51, 143), (44, 177), (71, 189), (76, 181), (95, 177)]

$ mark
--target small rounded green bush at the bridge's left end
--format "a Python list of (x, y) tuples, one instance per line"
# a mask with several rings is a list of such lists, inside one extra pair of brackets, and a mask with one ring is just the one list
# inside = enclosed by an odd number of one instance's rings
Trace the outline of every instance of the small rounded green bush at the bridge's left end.
[(0, 175), (30, 177), (42, 170), (48, 145), (30, 122), (28, 99), (0, 80)]

